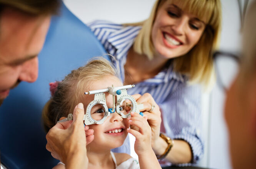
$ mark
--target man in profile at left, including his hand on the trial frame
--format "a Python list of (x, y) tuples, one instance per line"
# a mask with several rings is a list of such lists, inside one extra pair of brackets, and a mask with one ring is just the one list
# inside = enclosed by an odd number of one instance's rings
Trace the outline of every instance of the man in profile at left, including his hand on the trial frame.
[[(21, 81), (37, 80), (37, 56), (45, 41), (50, 16), (57, 13), (59, 3), (58, 0), (0, 0), (0, 104)], [(83, 115), (80, 103), (74, 110), (73, 122), (58, 123), (47, 134), (48, 151), (64, 162), (66, 168), (88, 165), (86, 139), (87, 143), (93, 140), (93, 131), (84, 127)]]

